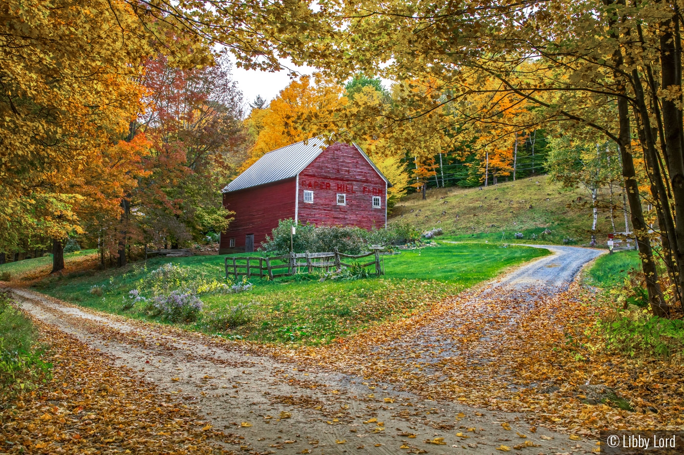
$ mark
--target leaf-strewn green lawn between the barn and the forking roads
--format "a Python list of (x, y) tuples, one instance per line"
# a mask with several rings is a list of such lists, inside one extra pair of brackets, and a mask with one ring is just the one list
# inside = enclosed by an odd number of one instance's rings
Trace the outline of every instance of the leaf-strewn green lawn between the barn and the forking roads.
[[(503, 268), (548, 254), (529, 247), (449, 244), (383, 256), (386, 275), (367, 279), (324, 281), (317, 275), (281, 277), (273, 281), (250, 278), (254, 288), (237, 294), (202, 294), (202, 316), (189, 329), (220, 332), (226, 337), (259, 342), (321, 344), (362, 330), (370, 324), (420, 312), (431, 303), (495, 277)], [(225, 281), (225, 256), (153, 258), (124, 269), (79, 271), (42, 279), (40, 292), (87, 307), (134, 318), (145, 318), (140, 307), (122, 309), (129, 290), (166, 262), (187, 267), (193, 277)], [(102, 286), (102, 294), (90, 293)], [(236, 309), (246, 317), (235, 327), (216, 327)]]

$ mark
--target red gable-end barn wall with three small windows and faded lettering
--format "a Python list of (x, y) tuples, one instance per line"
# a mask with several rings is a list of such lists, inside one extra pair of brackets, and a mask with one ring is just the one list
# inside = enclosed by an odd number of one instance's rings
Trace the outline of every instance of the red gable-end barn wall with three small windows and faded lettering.
[[(313, 204), (304, 202), (304, 190), (313, 191)], [(337, 205), (337, 193), (347, 195), (346, 206)], [(297, 197), (300, 223), (385, 227), (385, 181), (354, 146), (336, 142), (315, 158), (300, 172)]]

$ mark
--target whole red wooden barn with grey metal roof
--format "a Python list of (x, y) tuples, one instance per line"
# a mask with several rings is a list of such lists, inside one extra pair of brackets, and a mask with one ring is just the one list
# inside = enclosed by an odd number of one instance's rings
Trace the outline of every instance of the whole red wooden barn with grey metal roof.
[(254, 251), (280, 219), (317, 226), (384, 228), (391, 186), (356, 146), (322, 137), (268, 152), (223, 189), (235, 212), (220, 254)]

